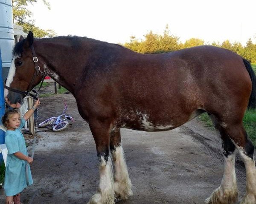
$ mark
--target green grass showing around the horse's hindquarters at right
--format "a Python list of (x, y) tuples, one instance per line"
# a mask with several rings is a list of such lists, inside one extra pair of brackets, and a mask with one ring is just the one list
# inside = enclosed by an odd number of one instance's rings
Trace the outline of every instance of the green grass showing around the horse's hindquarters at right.
[[(199, 119), (204, 123), (206, 127), (214, 128), (212, 122), (207, 113), (199, 116)], [(247, 110), (244, 114), (244, 128), (256, 147), (256, 110)]]

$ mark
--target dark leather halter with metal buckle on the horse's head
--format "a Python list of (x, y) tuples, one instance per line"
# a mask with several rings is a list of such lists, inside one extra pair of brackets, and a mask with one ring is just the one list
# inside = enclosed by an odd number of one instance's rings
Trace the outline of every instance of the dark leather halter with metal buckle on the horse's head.
[[(45, 74), (45, 71), (41, 71), (40, 67), (38, 66), (38, 58), (35, 56), (35, 49), (34, 49), (33, 45), (31, 45), (31, 51), (32, 51), (32, 55), (33, 55), (33, 62), (35, 63), (35, 72), (34, 72), (34, 75), (31, 79), (31, 82), (29, 84), (29, 87), (28, 87), (27, 91), (20, 91), (20, 90), (11, 88), (11, 87), (6, 86), (6, 85), (4, 85), (4, 88), (8, 89), (9, 91), (16, 92), (18, 94), (23, 94), (25, 96), (31, 96), (33, 99), (36, 100), (36, 99), (38, 99), (38, 93), (39, 93), (39, 91), (40, 91), (40, 89), (43, 85), (44, 77), (46, 76), (46, 74)], [(33, 85), (33, 82), (34, 82), (36, 76), (42, 76), (41, 85), (40, 85), (38, 91), (32, 90), (32, 85)], [(33, 93), (30, 93), (31, 91)]]

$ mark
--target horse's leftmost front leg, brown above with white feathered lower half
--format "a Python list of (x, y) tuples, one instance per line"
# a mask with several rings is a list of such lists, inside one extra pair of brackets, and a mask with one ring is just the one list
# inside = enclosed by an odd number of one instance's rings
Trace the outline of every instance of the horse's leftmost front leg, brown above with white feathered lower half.
[(113, 167), (109, 153), (110, 127), (107, 122), (90, 122), (99, 159), (99, 188), (88, 204), (114, 204)]

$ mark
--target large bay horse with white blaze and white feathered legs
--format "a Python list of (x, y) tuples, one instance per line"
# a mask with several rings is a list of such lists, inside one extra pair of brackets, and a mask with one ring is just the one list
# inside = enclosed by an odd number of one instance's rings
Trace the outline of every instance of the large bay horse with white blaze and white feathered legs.
[(204, 112), (218, 130), (224, 156), (221, 185), (205, 202), (237, 202), (238, 150), (247, 177), (241, 204), (256, 204), (254, 147), (242, 122), (247, 107), (256, 107), (256, 77), (250, 63), (233, 51), (198, 46), (139, 54), (86, 37), (34, 39), (29, 32), (14, 48), (6, 102), (19, 108), (45, 75), (73, 94), (93, 134), (99, 188), (89, 204), (114, 204), (115, 198), (132, 195), (120, 128), (171, 130)]

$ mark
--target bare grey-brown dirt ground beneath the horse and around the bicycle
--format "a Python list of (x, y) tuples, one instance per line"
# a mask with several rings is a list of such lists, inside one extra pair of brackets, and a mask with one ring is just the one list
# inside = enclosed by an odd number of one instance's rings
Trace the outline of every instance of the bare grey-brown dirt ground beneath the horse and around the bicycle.
[[(59, 133), (39, 129), (31, 166), (34, 184), (23, 191), (24, 204), (32, 199), (35, 204), (80, 204), (96, 192), (96, 147), (74, 97), (57, 94), (41, 98), (38, 121), (61, 114), (64, 102), (75, 122)], [(224, 161), (218, 138), (197, 119), (166, 132), (122, 129), (121, 134), (134, 195), (120, 204), (203, 204), (221, 184)], [(32, 137), (26, 139), (31, 144)], [(245, 192), (241, 162), (237, 162), (236, 173), (241, 200)], [(0, 203), (4, 203), (3, 190)]]

